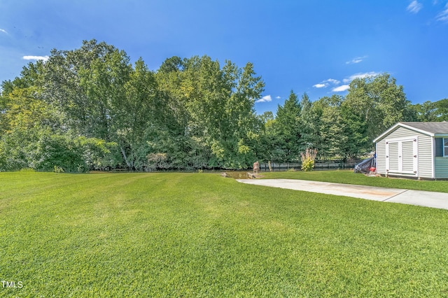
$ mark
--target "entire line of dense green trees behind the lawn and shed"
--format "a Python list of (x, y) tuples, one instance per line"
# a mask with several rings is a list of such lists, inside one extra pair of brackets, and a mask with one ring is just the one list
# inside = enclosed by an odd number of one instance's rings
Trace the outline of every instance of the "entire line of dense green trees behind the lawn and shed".
[(1, 83), (0, 171), (247, 169), (307, 148), (345, 160), (395, 122), (448, 118), (448, 99), (412, 105), (388, 73), (353, 80), (345, 97), (291, 91), (275, 115), (255, 113), (264, 86), (251, 63), (171, 57), (151, 71), (95, 40), (52, 50)]

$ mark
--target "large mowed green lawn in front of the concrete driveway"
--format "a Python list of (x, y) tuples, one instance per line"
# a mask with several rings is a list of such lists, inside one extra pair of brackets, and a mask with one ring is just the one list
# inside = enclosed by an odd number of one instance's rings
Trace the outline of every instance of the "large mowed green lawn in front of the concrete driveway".
[(447, 297), (448, 211), (206, 173), (0, 173), (3, 297)]

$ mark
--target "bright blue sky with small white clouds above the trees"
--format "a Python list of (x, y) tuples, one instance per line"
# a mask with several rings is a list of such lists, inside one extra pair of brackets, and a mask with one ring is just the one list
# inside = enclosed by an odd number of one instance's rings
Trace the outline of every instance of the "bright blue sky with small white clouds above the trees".
[(92, 38), (154, 70), (174, 55), (252, 62), (258, 113), (290, 90), (314, 101), (384, 72), (414, 104), (448, 98), (447, 0), (1, 0), (0, 81)]

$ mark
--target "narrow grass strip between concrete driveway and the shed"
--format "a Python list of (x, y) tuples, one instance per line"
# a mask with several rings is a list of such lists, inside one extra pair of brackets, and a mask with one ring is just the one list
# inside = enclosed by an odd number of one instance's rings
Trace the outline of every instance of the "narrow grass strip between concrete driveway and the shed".
[(283, 171), (261, 172), (265, 179), (300, 179), (332, 183), (369, 185), (378, 187), (402, 188), (406, 190), (427, 190), (430, 192), (448, 192), (448, 180), (412, 180), (405, 178), (387, 178), (365, 176), (353, 171)]

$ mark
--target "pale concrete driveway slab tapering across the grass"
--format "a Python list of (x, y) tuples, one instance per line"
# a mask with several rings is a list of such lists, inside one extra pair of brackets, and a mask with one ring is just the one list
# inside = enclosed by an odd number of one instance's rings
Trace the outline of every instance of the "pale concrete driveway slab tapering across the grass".
[(423, 192), (420, 190), (401, 190), (398, 188), (349, 185), (295, 179), (237, 179), (238, 182), (270, 187), (335, 194), (338, 196), (371, 199), (393, 203), (411, 204), (448, 210), (448, 193)]

